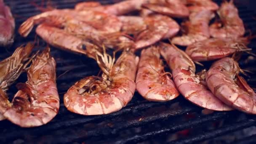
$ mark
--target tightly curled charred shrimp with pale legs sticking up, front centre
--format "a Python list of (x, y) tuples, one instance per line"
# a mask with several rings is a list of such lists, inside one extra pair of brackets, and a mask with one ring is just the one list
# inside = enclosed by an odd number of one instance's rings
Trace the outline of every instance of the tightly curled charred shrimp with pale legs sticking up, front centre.
[(134, 83), (139, 58), (131, 51), (123, 51), (115, 59), (96, 52), (96, 60), (104, 72), (102, 77), (85, 77), (64, 95), (64, 105), (81, 115), (109, 114), (125, 107), (136, 89)]

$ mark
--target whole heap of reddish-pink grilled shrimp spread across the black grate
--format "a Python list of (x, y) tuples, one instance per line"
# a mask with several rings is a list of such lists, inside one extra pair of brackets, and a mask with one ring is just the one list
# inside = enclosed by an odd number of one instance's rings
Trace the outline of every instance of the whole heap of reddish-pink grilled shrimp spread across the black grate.
[[(88, 56), (101, 69), (100, 76), (84, 77), (64, 94), (70, 112), (116, 112), (137, 91), (148, 101), (170, 101), (181, 94), (205, 109), (256, 114), (256, 94), (239, 75), (244, 72), (235, 57), (250, 53), (251, 37), (244, 36), (232, 0), (220, 6), (212, 0), (82, 2), (73, 9), (52, 9), (30, 17), (19, 34), (27, 37), (33, 27), (49, 45)], [(50, 48), (30, 56), (32, 47), (21, 46), (0, 63), (0, 69), (6, 69), (0, 75), (0, 116), (21, 127), (48, 123), (59, 110)], [(116, 53), (121, 53), (117, 59)], [(165, 71), (165, 61), (170, 72)], [(213, 64), (208, 71), (196, 73), (200, 61)], [(24, 69), (28, 81), (17, 84), (19, 91), (10, 102), (5, 91)]]

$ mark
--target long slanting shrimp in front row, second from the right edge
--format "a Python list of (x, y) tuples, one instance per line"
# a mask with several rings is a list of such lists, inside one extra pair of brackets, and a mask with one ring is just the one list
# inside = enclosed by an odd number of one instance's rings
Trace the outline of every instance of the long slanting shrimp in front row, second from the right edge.
[(216, 111), (231, 110), (195, 75), (195, 64), (184, 51), (167, 43), (160, 43), (161, 55), (172, 70), (173, 80), (179, 92), (192, 103)]

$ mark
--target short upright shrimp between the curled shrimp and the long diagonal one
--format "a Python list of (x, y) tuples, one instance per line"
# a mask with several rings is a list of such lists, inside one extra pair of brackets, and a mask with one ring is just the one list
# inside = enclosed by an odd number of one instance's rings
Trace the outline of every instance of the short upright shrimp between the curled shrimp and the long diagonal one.
[(163, 61), (156, 46), (141, 51), (136, 89), (149, 101), (169, 101), (179, 96), (171, 76), (164, 72)]

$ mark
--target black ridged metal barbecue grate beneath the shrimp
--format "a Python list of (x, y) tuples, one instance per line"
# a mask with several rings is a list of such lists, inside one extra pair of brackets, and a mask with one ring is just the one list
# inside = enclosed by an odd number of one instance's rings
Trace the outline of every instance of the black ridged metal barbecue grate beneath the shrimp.
[[(37, 5), (43, 0), (32, 0)], [(51, 0), (50, 5), (56, 8), (73, 8), (77, 2), (85, 0)], [(103, 4), (120, 0), (101, 0)], [(242, 1), (242, 0), (240, 0)], [(29, 16), (41, 11), (31, 0), (5, 0), (11, 7), (16, 19), (16, 29)], [(221, 1), (217, 1), (221, 3)], [(46, 6), (46, 5), (40, 5)], [(254, 12), (245, 5), (237, 5), (240, 17), (246, 29), (256, 33)], [(21, 44), (33, 42), (35, 31), (27, 38), (16, 33), (15, 43), (11, 48), (0, 48), (0, 60), (10, 56), (14, 49)], [(46, 43), (40, 40), (43, 49)], [(256, 40), (249, 45), (254, 48)], [(255, 50), (253, 50), (255, 52)], [(86, 56), (72, 54), (51, 48), (51, 54), (57, 62), (57, 87), (60, 94), (61, 106), (59, 114), (48, 124), (37, 128), (20, 128), (4, 120), (0, 122), (1, 143), (107, 143), (107, 144), (250, 144), (256, 143), (256, 116), (246, 115), (237, 110), (232, 112), (205, 113), (182, 96), (168, 102), (149, 102), (135, 93), (131, 102), (118, 112), (109, 115), (83, 116), (67, 111), (63, 104), (63, 95), (77, 80), (89, 75), (97, 75), (99, 67), (96, 61)], [(243, 54), (239, 63), (243, 69), (256, 72), (256, 59)], [(208, 62), (204, 63), (207, 67)], [(197, 66), (200, 69), (200, 66)], [(256, 87), (256, 76), (249, 74), (245, 77), (251, 87)], [(25, 82), (26, 74), (22, 74), (16, 82)], [(8, 90), (12, 98), (17, 89), (15, 84)], [(203, 111), (203, 113), (202, 113)]]

